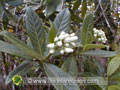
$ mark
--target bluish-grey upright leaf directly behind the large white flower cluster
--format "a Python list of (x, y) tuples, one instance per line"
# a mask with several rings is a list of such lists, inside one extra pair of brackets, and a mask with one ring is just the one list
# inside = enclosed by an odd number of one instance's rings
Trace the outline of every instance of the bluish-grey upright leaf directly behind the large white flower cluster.
[(68, 32), (70, 30), (70, 12), (67, 8), (62, 10), (56, 16), (54, 25), (57, 30), (57, 34), (59, 34), (61, 31)]

